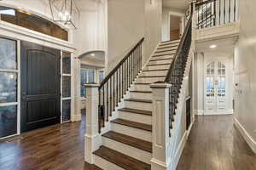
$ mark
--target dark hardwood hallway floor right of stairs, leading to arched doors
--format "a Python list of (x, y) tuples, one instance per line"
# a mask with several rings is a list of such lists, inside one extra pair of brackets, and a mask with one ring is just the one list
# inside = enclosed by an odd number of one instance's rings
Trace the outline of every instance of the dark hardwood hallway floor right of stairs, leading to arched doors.
[(232, 116), (196, 116), (177, 170), (255, 170), (256, 156)]

